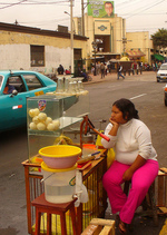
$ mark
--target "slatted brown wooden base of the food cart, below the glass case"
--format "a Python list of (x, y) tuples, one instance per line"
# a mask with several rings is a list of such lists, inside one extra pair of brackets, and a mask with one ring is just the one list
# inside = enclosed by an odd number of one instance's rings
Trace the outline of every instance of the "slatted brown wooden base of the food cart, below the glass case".
[[(43, 184), (41, 184), (41, 166), (40, 164), (31, 164), (29, 160), (23, 161), (22, 165), (24, 167), (26, 179), (28, 233), (33, 235), (36, 212), (31, 202), (45, 192)], [(38, 169), (38, 172), (32, 172), (33, 167)], [(89, 161), (82, 168), (79, 168), (79, 170), (82, 172), (82, 182), (86, 185), (89, 195), (89, 202), (80, 204), (79, 207), (77, 207), (77, 225), (79, 233), (81, 233), (88, 226), (91, 218), (105, 217), (105, 212), (108, 206), (107, 193), (102, 187), (102, 176), (107, 170), (106, 150), (104, 149), (100, 159)], [(68, 216), (67, 219), (69, 219), (68, 234), (72, 234), (70, 217)], [(43, 231), (41, 234), (46, 234), (46, 231), (47, 224), (43, 221)], [(59, 234), (57, 226), (53, 234)]]

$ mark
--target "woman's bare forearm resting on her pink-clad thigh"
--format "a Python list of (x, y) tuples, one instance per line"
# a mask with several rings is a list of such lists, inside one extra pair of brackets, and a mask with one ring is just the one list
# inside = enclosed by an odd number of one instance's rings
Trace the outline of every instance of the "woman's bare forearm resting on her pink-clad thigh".
[(134, 173), (141, 167), (146, 163), (146, 159), (141, 157), (140, 155), (137, 156), (136, 160), (132, 163), (132, 165), (125, 172), (122, 179), (124, 180), (130, 180)]

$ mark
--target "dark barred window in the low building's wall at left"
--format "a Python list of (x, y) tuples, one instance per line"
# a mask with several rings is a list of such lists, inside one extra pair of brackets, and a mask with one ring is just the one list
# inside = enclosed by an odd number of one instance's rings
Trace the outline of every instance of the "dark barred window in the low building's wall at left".
[(30, 46), (31, 67), (45, 66), (45, 46)]

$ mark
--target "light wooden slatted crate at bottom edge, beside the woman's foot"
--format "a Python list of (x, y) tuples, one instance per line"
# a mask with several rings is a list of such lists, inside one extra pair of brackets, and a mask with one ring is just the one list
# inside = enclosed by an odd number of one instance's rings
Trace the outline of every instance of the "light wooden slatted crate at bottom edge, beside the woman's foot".
[(92, 218), (81, 235), (115, 235), (115, 221)]

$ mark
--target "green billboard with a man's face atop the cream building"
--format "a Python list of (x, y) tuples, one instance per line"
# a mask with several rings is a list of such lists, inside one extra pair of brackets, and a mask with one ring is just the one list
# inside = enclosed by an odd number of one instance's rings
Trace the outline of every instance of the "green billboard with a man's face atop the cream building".
[(114, 1), (88, 0), (88, 16), (112, 18), (115, 16)]

